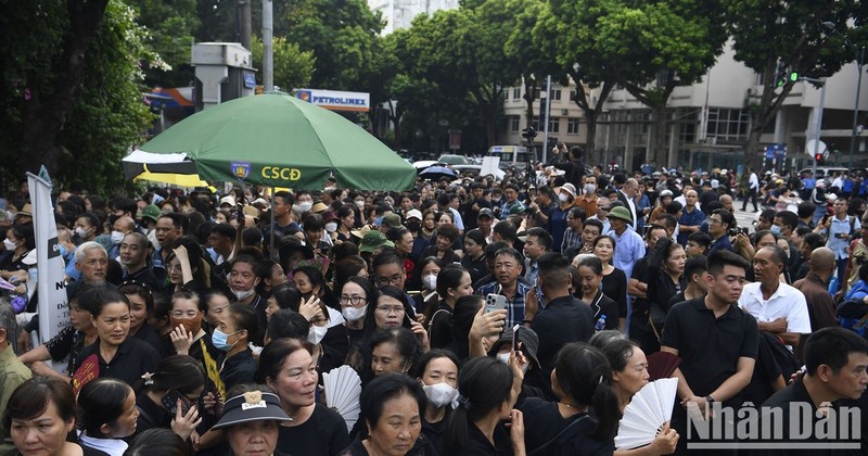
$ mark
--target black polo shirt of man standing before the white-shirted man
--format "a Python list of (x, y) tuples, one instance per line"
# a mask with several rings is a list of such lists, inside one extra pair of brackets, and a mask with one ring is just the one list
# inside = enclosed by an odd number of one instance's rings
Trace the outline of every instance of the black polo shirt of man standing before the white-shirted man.
[[(756, 319), (735, 305), (715, 318), (702, 296), (669, 309), (660, 344), (678, 350), (687, 383), (704, 397), (736, 373), (740, 357), (756, 359), (760, 331)], [(727, 403), (740, 405), (739, 395)]]

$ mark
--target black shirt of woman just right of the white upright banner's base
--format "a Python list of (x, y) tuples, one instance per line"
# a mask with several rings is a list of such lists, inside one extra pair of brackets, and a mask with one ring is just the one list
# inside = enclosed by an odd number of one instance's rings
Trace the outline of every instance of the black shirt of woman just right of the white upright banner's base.
[(136, 384), (144, 372), (154, 372), (159, 363), (159, 353), (150, 343), (140, 339), (128, 337), (111, 362), (106, 363), (100, 354), (100, 341), (93, 342), (81, 350), (76, 360), (75, 369), (81, 366), (90, 355), (97, 355), (100, 363), (99, 378), (113, 378), (127, 382), (129, 385)]

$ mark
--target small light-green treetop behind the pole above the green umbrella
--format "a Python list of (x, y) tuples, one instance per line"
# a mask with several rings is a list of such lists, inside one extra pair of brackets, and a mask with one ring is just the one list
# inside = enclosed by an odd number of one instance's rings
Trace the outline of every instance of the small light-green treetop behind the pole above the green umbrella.
[[(253, 65), (260, 71), (256, 80), (263, 84), (263, 40), (254, 36)], [(314, 74), (316, 59), (311, 52), (302, 52), (298, 45), (286, 42), (285, 38), (273, 39), (275, 86), (285, 92), (299, 87), (307, 87)]]

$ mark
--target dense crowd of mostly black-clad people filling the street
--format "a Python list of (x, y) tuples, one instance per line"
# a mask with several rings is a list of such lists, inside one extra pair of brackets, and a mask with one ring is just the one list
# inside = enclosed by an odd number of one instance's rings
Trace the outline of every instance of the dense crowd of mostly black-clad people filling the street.
[[(0, 454), (664, 455), (689, 452), (693, 406), (865, 405), (864, 200), (815, 180), (739, 227), (731, 173), (570, 159), (406, 192), (65, 189), (52, 337), (31, 203), (9, 193)], [(761, 185), (745, 174), (745, 205)], [(327, 406), (342, 366), (355, 425)], [(616, 448), (663, 378), (672, 419)], [(847, 435), (864, 454), (865, 425)]]

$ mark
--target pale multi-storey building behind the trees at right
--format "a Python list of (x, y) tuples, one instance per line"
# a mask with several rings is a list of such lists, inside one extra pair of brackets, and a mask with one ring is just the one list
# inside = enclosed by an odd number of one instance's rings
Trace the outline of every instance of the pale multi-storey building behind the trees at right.
[[(868, 79), (868, 78), (866, 78)], [(853, 131), (853, 109), (856, 102), (857, 71), (855, 63), (844, 67), (827, 80), (824, 103), (821, 140), (830, 149), (829, 163), (848, 166), (850, 141)], [(864, 83), (865, 85), (865, 83)], [(564, 93), (572, 88), (558, 88), (552, 102), (550, 125), (552, 136), (567, 145), (584, 144), (586, 126), (582, 111)], [(516, 90), (519, 92), (516, 92)], [(667, 163), (660, 166), (679, 166), (686, 169), (713, 167), (736, 168), (744, 164), (744, 143), (751, 127), (750, 109), (760, 101), (762, 76), (735, 60), (735, 51), (727, 46), (701, 81), (678, 87), (669, 98), (669, 128), (666, 144)], [(502, 135), (511, 144), (521, 143), (521, 130), (526, 127), (524, 100), (521, 90), (510, 88), (503, 103), (507, 122)], [(593, 92), (591, 93), (591, 101)], [(819, 113), (820, 90), (809, 83), (795, 84), (787, 97), (777, 118), (769, 123), (761, 138), (762, 144), (787, 145), (784, 164), (801, 167), (813, 161), (813, 151), (805, 150), (806, 139), (815, 136), (816, 115)], [(536, 111), (538, 112), (538, 102)], [(868, 88), (859, 94), (858, 124), (868, 117)], [(538, 129), (539, 130), (539, 129)], [(858, 128), (860, 134), (861, 128)], [(574, 131), (577, 131), (575, 134)], [(610, 92), (603, 104), (603, 115), (597, 126), (596, 151), (589, 154), (597, 163), (617, 163), (622, 168), (638, 169), (652, 160), (651, 112), (623, 88)], [(541, 141), (541, 134), (537, 142)], [(763, 154), (760, 153), (760, 156)], [(857, 137), (855, 167), (868, 166), (865, 141)], [(757, 166), (761, 163), (756, 164)], [(771, 162), (765, 168), (771, 168)], [(777, 163), (781, 166), (781, 163)]]

